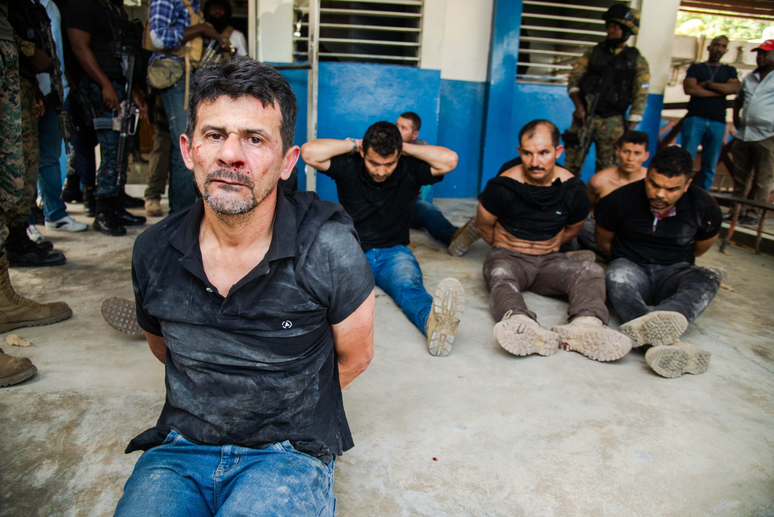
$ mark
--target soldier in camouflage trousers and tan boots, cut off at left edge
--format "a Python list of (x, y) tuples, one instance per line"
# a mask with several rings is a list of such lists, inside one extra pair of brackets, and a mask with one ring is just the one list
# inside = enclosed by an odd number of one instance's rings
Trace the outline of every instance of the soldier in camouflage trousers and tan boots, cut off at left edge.
[[(0, 249), (9, 235), (5, 215), (22, 197), (24, 185), (19, 53), (8, 9), (8, 0), (0, 0)], [(8, 267), (8, 259), (0, 252), (0, 332), (52, 324), (72, 316), (67, 303), (37, 303), (19, 296), (11, 285)], [(36, 371), (28, 358), (15, 358), (0, 350), (0, 386), (22, 382)]]

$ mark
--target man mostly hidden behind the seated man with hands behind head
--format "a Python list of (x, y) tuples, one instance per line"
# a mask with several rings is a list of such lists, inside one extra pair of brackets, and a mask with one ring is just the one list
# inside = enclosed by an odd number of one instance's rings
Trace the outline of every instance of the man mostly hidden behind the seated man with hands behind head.
[[(426, 146), (427, 142), (419, 138), (420, 127), (422, 127), (422, 119), (420, 115), (416, 115), (413, 111), (406, 111), (398, 117), (395, 125), (398, 126), (400, 136), (403, 142), (409, 144), (415, 144), (417, 146)], [(430, 190), (432, 186), (426, 185), (422, 187), (422, 192)], [(478, 240), (478, 231), (476, 231), (475, 223), (465, 224), (461, 228), (457, 228), (454, 224), (451, 224), (449, 220), (444, 216), (444, 213), (440, 211), (440, 208), (432, 203), (422, 199), (416, 200), (414, 205), (414, 215), (411, 220), (411, 228), (422, 229), (424, 228), (427, 233), (433, 236), (436, 241), (447, 246), (449, 253), (452, 253), (453, 243), (454, 248), (459, 248), (462, 241), (474, 241)], [(466, 235), (463, 235), (466, 234)], [(469, 245), (467, 245), (469, 246)], [(467, 250), (467, 246), (464, 248)], [(463, 251), (464, 252), (464, 251)], [(455, 256), (460, 256), (459, 255)]]

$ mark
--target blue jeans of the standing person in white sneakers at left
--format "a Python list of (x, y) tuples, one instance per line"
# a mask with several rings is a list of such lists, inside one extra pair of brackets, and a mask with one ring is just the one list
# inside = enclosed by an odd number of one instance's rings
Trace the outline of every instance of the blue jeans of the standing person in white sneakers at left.
[(43, 197), (43, 215), (46, 221), (59, 221), (67, 215), (67, 207), (60, 199), (62, 193), (62, 137), (59, 134), (57, 114), (46, 111), (38, 118), (38, 142), (40, 145), (40, 166), (38, 189)]

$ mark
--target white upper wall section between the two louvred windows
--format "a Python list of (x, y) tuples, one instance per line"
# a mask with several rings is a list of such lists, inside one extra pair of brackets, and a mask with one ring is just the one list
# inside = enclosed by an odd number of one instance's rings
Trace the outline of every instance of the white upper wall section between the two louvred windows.
[(425, 0), (420, 67), (485, 81), (493, 0)]

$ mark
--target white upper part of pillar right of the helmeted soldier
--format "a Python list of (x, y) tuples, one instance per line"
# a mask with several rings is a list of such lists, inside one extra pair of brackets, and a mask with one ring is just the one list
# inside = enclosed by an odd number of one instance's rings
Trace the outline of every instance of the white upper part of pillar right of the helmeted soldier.
[(675, 19), (680, 0), (642, 0), (635, 42), (650, 65), (650, 93), (663, 94), (672, 70)]

